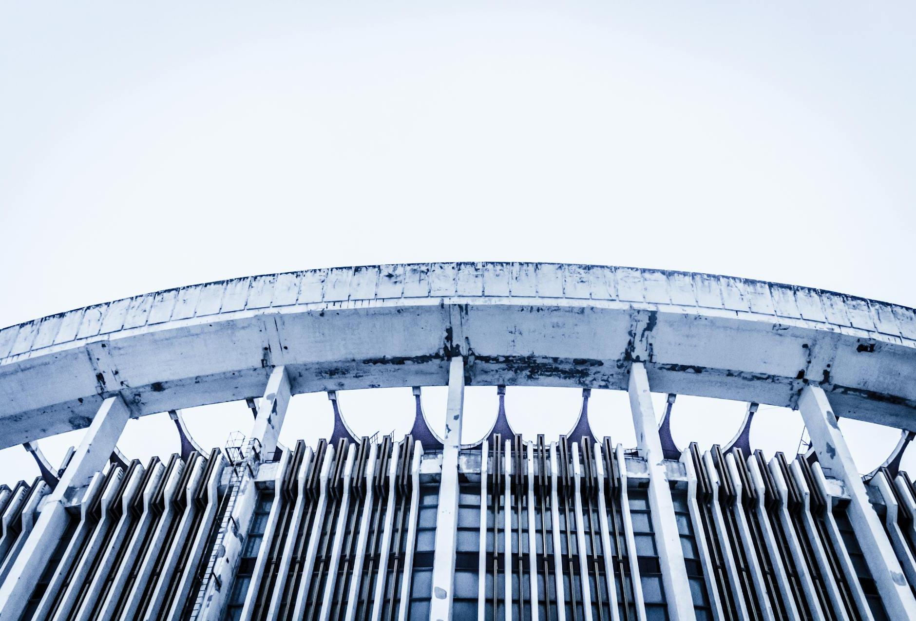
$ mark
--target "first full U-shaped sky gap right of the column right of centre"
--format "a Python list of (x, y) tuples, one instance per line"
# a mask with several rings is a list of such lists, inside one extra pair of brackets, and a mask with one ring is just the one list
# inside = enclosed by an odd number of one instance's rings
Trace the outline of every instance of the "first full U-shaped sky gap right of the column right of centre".
[[(656, 409), (659, 419), (664, 411)], [(678, 395), (671, 408), (671, 438), (682, 451), (691, 442), (701, 451), (708, 451), (713, 444), (725, 448), (741, 429), (746, 412), (744, 401)]]

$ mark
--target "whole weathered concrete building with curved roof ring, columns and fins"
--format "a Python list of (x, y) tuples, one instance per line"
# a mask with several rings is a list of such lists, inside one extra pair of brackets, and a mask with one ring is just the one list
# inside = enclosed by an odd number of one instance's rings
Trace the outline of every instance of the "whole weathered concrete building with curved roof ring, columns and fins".
[[(899, 455), (859, 474), (836, 423), (916, 430), (914, 376), (911, 309), (628, 267), (332, 268), (27, 322), (0, 331), (0, 444), (44, 469), (0, 485), (0, 621), (916, 618), (916, 490)], [(469, 385), (584, 388), (576, 432), (501, 410), (469, 446)], [(411, 433), (278, 442), (295, 395), (370, 387), (414, 387)], [(601, 389), (637, 446), (592, 436)], [(741, 441), (675, 447), (651, 392), (746, 401)], [(235, 399), (251, 429), (202, 449), (180, 409)], [(812, 451), (755, 451), (758, 404), (799, 409)], [(119, 455), (166, 411), (175, 454)], [(81, 427), (64, 464), (32, 443)]]

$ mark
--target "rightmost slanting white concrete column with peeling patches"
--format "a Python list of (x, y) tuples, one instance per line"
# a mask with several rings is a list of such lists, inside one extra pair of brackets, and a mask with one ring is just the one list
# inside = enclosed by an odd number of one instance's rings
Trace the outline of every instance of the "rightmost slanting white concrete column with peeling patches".
[(878, 514), (868, 502), (868, 494), (852, 454), (846, 446), (834, 411), (821, 387), (806, 386), (799, 398), (799, 410), (811, 436), (818, 463), (843, 481), (849, 494), (846, 509), (856, 531), (859, 547), (868, 569), (875, 578), (878, 592), (888, 614), (894, 619), (916, 619), (916, 599), (894, 555)]

